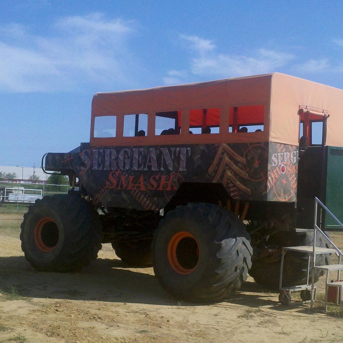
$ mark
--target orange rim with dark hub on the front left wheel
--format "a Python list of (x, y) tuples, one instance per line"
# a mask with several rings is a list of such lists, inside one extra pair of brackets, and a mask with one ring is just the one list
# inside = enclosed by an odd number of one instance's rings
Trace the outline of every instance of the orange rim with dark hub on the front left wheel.
[(35, 225), (33, 237), (40, 251), (50, 252), (54, 250), (59, 238), (56, 222), (50, 217), (40, 219)]

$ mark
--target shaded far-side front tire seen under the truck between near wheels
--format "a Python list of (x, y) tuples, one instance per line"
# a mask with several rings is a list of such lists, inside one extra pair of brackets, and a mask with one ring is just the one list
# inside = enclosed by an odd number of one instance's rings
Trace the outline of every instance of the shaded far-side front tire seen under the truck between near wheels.
[(123, 263), (129, 267), (150, 267), (152, 239), (130, 242), (114, 242), (112, 248)]

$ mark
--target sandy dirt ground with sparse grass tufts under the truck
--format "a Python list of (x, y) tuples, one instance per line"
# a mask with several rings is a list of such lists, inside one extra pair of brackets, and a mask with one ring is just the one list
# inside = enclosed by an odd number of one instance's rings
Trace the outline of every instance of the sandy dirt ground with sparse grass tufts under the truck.
[[(343, 341), (338, 314), (281, 306), (250, 277), (222, 303), (178, 302), (152, 268), (126, 268), (109, 244), (81, 272), (37, 272), (20, 247), (21, 221), (0, 213), (0, 343)], [(341, 234), (332, 237), (343, 246)]]

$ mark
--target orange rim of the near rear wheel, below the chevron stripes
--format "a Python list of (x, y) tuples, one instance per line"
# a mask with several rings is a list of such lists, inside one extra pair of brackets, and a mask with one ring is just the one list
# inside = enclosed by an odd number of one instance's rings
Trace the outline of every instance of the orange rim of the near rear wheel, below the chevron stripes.
[(171, 237), (168, 244), (168, 261), (175, 272), (188, 275), (196, 270), (200, 258), (199, 244), (189, 232), (181, 231)]

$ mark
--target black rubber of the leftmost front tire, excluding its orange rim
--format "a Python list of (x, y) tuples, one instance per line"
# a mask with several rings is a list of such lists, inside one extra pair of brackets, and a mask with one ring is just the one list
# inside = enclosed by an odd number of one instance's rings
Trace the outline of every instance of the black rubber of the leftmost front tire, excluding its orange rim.
[[(63, 223), (63, 228), (59, 230), (63, 230), (64, 240), (61, 251), (47, 263), (40, 261), (39, 255), (35, 254), (28, 231), (33, 230), (33, 218), (37, 213), (49, 214), (51, 211), (57, 213)], [(22, 250), (28, 262), (37, 270), (50, 272), (71, 272), (89, 265), (97, 258), (102, 237), (102, 224), (96, 209), (85, 199), (69, 194), (36, 200), (24, 214), (20, 234)]]

